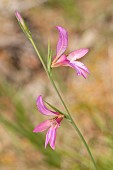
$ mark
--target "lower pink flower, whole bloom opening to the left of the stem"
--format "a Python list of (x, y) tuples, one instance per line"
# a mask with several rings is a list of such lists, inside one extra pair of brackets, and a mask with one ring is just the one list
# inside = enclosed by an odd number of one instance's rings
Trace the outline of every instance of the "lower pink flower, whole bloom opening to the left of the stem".
[(57, 128), (60, 126), (60, 122), (64, 118), (64, 115), (49, 110), (43, 102), (42, 96), (39, 96), (37, 99), (37, 107), (40, 113), (46, 116), (55, 116), (52, 119), (48, 119), (35, 127), (33, 132), (43, 132), (48, 129), (46, 133), (46, 140), (45, 140), (45, 148), (49, 143), (52, 149), (55, 149), (55, 140), (56, 140), (56, 131)]

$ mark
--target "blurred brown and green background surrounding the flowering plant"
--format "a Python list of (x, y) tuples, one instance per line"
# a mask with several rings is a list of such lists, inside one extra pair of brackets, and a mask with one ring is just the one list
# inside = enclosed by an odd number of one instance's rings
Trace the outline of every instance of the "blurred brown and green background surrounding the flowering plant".
[(16, 10), (45, 59), (48, 40), (55, 54), (57, 25), (68, 31), (67, 53), (90, 49), (80, 60), (90, 70), (86, 80), (68, 67), (54, 69), (54, 78), (99, 170), (113, 170), (112, 0), (0, 1), (0, 169), (94, 169), (86, 148), (66, 120), (58, 129), (55, 151), (49, 146), (44, 149), (45, 132), (32, 132), (47, 118), (36, 108), (38, 95), (62, 111), (64, 108), (19, 27)]

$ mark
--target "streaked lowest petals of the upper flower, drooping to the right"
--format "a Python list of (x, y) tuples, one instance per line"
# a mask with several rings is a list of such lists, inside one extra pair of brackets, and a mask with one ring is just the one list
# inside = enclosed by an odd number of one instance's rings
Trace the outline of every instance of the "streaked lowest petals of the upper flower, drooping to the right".
[(89, 73), (89, 70), (83, 63), (75, 61), (70, 64), (77, 71), (78, 76), (82, 75), (84, 78), (87, 77), (87, 73)]

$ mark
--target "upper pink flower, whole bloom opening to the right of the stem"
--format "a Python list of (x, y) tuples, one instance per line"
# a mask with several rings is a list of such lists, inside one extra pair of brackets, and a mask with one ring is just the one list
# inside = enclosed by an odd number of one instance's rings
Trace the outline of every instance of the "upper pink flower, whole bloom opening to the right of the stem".
[(66, 48), (68, 46), (68, 33), (64, 28), (60, 26), (57, 26), (57, 29), (59, 31), (59, 40), (57, 43), (56, 56), (52, 61), (51, 67), (69, 66), (77, 71), (77, 75), (82, 75), (84, 78), (86, 78), (89, 70), (83, 63), (81, 63), (80, 61), (76, 61), (76, 59), (79, 59), (87, 54), (88, 49), (81, 48), (79, 50), (71, 52), (69, 55), (66, 56), (64, 52), (66, 51)]

